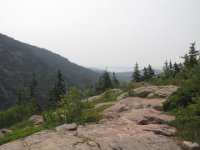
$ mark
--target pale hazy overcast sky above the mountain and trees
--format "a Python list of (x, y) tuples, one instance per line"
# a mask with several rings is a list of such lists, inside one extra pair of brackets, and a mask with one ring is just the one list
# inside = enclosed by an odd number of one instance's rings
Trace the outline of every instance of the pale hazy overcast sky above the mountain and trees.
[(0, 0), (0, 33), (85, 67), (161, 68), (200, 49), (200, 0)]

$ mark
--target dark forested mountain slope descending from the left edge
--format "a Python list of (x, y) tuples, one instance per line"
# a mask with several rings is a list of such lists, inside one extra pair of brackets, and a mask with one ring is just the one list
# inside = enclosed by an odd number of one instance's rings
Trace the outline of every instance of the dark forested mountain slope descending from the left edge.
[(46, 49), (0, 34), (0, 109), (15, 102), (17, 89), (26, 91), (33, 73), (38, 81), (38, 99), (45, 104), (58, 69), (67, 87), (83, 87), (86, 81), (94, 84), (99, 77), (98, 73)]

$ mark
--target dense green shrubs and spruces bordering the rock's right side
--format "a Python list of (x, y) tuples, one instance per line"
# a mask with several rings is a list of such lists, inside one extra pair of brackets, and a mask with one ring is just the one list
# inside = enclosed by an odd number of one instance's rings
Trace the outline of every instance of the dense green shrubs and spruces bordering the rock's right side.
[(163, 109), (176, 116), (170, 125), (177, 128), (178, 138), (200, 144), (200, 63), (195, 43), (191, 44), (183, 59), (183, 65), (174, 63), (169, 77), (166, 78), (164, 72), (154, 82), (179, 85), (180, 88), (164, 103)]

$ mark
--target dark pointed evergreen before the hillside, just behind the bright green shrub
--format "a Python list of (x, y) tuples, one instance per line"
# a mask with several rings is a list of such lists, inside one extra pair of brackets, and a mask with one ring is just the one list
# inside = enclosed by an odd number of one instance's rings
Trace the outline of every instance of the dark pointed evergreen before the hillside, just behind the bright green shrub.
[(65, 83), (60, 70), (58, 70), (54, 87), (52, 90), (49, 91), (50, 106), (55, 107), (57, 105), (57, 102), (64, 96), (65, 93)]

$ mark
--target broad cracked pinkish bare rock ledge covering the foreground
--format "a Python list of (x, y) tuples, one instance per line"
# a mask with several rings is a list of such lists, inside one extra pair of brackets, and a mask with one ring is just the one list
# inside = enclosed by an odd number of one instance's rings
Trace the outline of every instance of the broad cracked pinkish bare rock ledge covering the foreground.
[(171, 140), (175, 117), (154, 108), (165, 99), (125, 98), (103, 112), (98, 124), (62, 125), (0, 146), (0, 150), (181, 150)]

